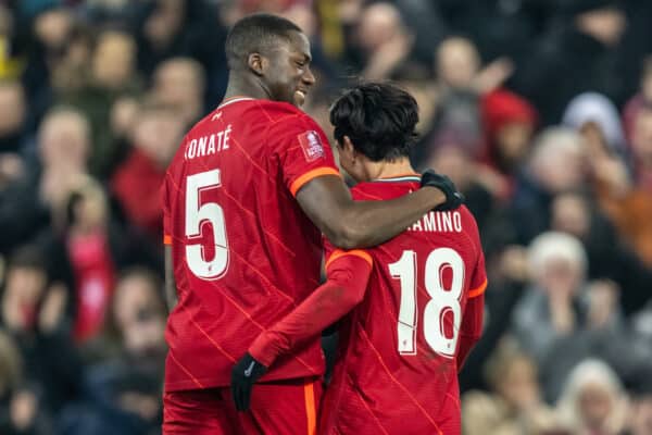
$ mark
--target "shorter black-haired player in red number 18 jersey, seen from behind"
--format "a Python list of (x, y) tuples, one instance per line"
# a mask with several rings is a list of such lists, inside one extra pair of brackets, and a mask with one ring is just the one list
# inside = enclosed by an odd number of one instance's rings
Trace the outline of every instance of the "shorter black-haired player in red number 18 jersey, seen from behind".
[[(408, 158), (418, 121), (412, 96), (391, 85), (361, 85), (334, 104), (330, 121), (340, 164), (360, 182), (353, 198), (385, 200), (418, 189)], [(457, 371), (480, 337), (487, 286), (468, 209), (430, 211), (372, 249), (327, 243), (326, 259), (326, 283), (262, 332), (249, 355), (273, 369), (346, 315), (318, 433), (459, 435)]]

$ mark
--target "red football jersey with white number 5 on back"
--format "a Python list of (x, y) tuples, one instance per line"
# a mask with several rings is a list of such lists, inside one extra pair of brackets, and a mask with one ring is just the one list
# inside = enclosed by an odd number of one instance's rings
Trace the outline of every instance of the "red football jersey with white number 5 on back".
[[(288, 103), (236, 98), (184, 138), (162, 188), (178, 303), (170, 314), (166, 390), (226, 386), (261, 331), (318, 285), (318, 229), (294, 199), (337, 175), (319, 126)], [(315, 339), (262, 378), (321, 375)]]

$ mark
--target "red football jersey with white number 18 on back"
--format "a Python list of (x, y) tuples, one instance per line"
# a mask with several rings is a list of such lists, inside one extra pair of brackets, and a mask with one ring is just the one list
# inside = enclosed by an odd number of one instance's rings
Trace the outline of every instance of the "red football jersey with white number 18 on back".
[[(362, 183), (352, 194), (380, 200), (418, 187), (417, 176), (404, 176)], [(460, 434), (456, 353), (462, 335), (479, 336), (464, 330), (477, 319), (471, 311), (481, 319), (481, 304), (465, 311), (487, 285), (473, 215), (465, 207), (429, 212), (365, 252), (372, 275), (363, 301), (340, 323), (319, 433)], [(327, 265), (347, 253), (327, 244)]]

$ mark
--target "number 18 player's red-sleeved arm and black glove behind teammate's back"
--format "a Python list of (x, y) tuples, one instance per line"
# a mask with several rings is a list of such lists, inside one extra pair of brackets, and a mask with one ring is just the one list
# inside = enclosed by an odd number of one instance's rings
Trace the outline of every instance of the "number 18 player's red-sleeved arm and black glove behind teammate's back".
[(279, 356), (314, 339), (362, 301), (372, 264), (366, 252), (336, 251), (326, 263), (326, 282), (258, 336), (231, 373), (231, 393), (239, 411), (249, 408), (253, 384)]

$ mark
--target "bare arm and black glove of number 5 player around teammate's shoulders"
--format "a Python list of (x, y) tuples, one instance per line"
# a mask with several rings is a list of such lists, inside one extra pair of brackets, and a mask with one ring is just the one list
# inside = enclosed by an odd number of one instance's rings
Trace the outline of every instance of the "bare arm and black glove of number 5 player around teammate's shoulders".
[(354, 201), (339, 177), (325, 175), (305, 183), (297, 192), (297, 200), (333, 245), (364, 248), (397, 236), (438, 206), (456, 208), (462, 203), (448, 177), (428, 172), (422, 186), (388, 201)]

